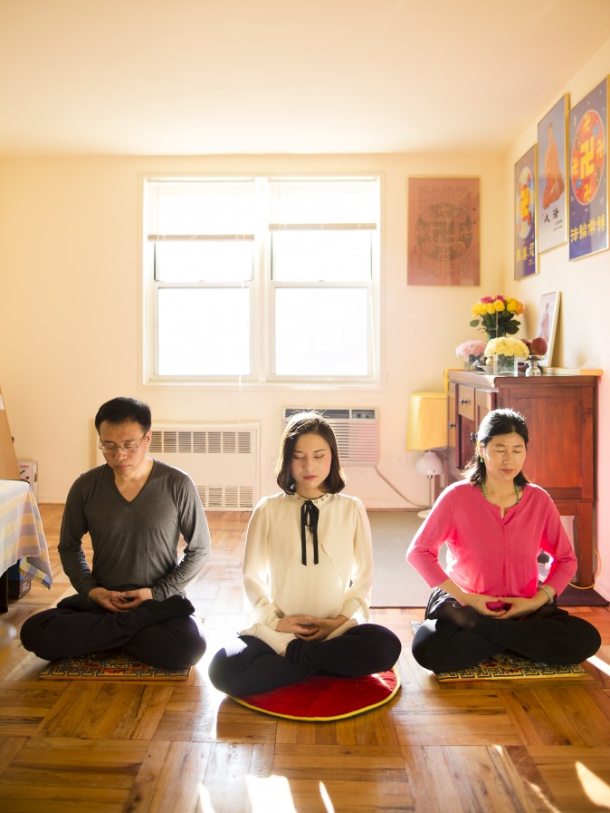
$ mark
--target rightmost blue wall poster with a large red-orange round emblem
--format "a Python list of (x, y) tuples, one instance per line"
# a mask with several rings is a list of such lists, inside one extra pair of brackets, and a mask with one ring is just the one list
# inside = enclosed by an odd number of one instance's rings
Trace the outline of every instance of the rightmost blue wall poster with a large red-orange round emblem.
[(608, 77), (569, 112), (569, 258), (608, 247)]

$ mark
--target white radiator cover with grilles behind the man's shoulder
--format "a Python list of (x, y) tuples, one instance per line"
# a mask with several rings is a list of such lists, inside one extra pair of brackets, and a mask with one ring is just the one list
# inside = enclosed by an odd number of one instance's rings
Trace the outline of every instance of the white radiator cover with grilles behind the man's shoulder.
[(259, 439), (258, 423), (157, 424), (148, 454), (186, 471), (206, 511), (252, 511), (259, 499)]

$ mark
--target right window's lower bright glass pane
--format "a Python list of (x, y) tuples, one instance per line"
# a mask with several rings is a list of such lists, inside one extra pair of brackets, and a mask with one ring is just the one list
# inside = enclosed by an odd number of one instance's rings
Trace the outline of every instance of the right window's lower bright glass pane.
[(368, 289), (277, 288), (275, 374), (367, 376)]

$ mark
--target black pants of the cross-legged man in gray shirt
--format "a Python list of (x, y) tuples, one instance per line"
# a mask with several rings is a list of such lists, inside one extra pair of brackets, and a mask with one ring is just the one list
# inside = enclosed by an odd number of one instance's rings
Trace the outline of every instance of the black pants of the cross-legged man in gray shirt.
[(81, 595), (71, 595), (56, 608), (28, 618), (21, 641), (46, 661), (120, 647), (161, 669), (185, 669), (205, 653), (205, 639), (194, 616), (171, 615), (165, 601), (148, 601), (129, 613), (110, 613)]

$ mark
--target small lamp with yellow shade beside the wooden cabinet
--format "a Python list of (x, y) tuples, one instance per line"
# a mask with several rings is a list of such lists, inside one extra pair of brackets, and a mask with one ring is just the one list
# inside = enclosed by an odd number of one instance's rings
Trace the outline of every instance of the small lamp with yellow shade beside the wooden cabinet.
[(447, 393), (413, 392), (406, 427), (406, 450), (424, 451), (415, 471), (425, 474), (430, 485), (429, 508), (417, 516), (425, 518), (434, 502), (434, 478), (443, 474), (443, 460), (434, 449), (447, 446)]

